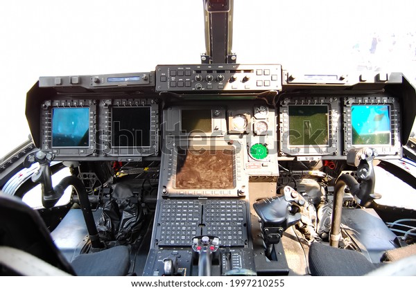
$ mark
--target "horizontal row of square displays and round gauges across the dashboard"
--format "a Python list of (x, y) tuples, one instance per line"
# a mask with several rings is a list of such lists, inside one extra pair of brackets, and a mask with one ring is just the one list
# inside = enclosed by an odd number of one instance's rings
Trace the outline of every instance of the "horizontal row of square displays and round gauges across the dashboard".
[[(297, 96), (284, 98), (277, 108), (256, 102), (169, 107), (163, 112), (164, 136), (236, 144), (241, 141), (236, 136), (244, 136), (254, 161), (275, 153), (343, 158), (349, 149), (365, 146), (377, 149), (379, 156), (401, 154), (399, 102), (387, 94)], [(42, 149), (58, 158), (135, 158), (159, 152), (155, 98), (46, 100), (40, 123)]]

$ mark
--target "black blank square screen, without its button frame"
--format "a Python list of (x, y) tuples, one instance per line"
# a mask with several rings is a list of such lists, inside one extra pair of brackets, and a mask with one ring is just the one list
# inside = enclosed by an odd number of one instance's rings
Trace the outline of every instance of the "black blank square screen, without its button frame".
[(150, 146), (150, 107), (112, 108), (112, 147)]

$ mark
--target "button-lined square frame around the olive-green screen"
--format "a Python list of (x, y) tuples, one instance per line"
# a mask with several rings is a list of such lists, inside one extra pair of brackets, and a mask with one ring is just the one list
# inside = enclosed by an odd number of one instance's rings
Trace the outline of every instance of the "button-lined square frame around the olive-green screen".
[[(294, 97), (286, 98), (281, 101), (279, 108), (280, 136), (279, 136), (279, 155), (280, 156), (323, 156), (336, 154), (338, 151), (338, 98), (336, 97)], [(291, 107), (327, 107), (327, 144), (316, 145), (291, 145), (291, 127), (289, 109)]]

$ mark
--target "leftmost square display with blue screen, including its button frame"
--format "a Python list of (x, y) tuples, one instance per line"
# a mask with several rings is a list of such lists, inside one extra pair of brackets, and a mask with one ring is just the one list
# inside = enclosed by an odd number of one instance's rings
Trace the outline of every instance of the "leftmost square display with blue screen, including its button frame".
[(41, 107), (41, 147), (56, 157), (96, 151), (95, 100), (46, 100)]

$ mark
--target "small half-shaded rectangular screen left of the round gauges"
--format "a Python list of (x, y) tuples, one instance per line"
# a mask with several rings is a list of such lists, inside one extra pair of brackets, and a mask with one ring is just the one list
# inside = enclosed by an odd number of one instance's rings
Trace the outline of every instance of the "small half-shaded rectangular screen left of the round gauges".
[(181, 115), (182, 132), (212, 132), (210, 109), (182, 109)]

